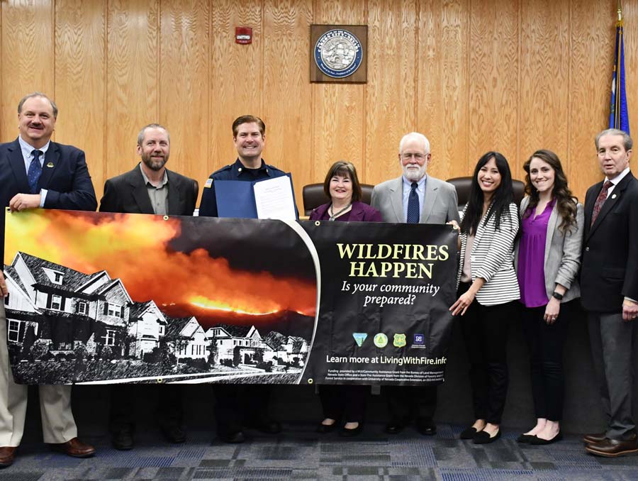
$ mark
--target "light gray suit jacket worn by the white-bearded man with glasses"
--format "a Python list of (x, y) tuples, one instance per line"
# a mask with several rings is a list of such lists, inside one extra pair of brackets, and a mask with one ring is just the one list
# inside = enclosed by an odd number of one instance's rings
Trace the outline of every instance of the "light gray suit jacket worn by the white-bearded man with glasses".
[[(405, 222), (403, 176), (376, 185), (372, 190), (370, 205), (381, 212), (384, 222)], [(428, 175), (419, 223), (446, 223), (452, 220), (459, 221), (457, 189), (452, 184)]]

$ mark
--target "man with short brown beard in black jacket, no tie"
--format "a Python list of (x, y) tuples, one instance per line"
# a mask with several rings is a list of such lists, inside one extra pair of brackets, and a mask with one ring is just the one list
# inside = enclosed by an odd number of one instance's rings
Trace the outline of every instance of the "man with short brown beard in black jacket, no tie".
[[(101, 212), (192, 216), (198, 185), (194, 179), (168, 170), (171, 140), (166, 128), (157, 123), (145, 126), (138, 135), (137, 152), (142, 162), (130, 172), (108, 179), (100, 201)], [(168, 385), (159, 390), (159, 429), (169, 443), (186, 439), (181, 426), (181, 387)], [(115, 385), (111, 392), (108, 428), (113, 448), (133, 448), (135, 431), (135, 387)]]

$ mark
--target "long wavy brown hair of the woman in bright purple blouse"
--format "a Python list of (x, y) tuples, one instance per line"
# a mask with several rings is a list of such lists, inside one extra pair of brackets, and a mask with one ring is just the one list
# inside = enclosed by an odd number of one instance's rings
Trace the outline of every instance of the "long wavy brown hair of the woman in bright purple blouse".
[(543, 162), (547, 162), (552, 169), (554, 169), (554, 187), (552, 188), (552, 197), (556, 199), (556, 210), (562, 218), (559, 229), (561, 232), (566, 233), (571, 231), (572, 227), (576, 226), (576, 202), (578, 199), (573, 197), (571, 190), (567, 187), (567, 176), (561, 165), (561, 160), (558, 155), (552, 152), (552, 150), (537, 150), (533, 153), (525, 164), (525, 194), (530, 196), (530, 204), (527, 206), (527, 211), (523, 214), (524, 217), (529, 217), (538, 205), (539, 195), (538, 190), (532, 184), (530, 179), (530, 163), (534, 157), (539, 158)]

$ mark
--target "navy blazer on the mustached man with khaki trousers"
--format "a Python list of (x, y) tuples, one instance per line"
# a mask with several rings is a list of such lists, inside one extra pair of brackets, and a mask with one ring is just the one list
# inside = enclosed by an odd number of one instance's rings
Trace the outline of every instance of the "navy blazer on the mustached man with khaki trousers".
[[(51, 142), (38, 181), (38, 189), (47, 189), (45, 209), (94, 211), (95, 190), (86, 167), (84, 152), (72, 145)], [(0, 144), (0, 259), (4, 259), (4, 207), (16, 194), (30, 192), (24, 157), (18, 139)]]

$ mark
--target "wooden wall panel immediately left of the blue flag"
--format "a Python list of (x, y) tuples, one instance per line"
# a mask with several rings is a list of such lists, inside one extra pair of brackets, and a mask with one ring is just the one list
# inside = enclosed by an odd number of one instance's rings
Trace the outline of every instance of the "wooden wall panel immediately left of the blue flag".
[[(582, 201), (588, 187), (603, 179), (598, 167), (594, 138), (609, 125), (615, 6), (615, 0), (571, 0), (572, 23), (578, 28), (571, 30), (567, 178), (572, 192)], [(610, 21), (601, 26), (600, 18), (610, 16)], [(638, 78), (634, 82), (638, 82)]]

